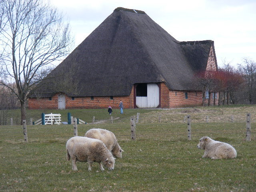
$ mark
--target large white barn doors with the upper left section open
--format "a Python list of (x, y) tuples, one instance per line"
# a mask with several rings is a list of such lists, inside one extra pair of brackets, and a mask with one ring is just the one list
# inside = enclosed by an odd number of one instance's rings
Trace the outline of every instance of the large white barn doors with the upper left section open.
[(136, 97), (139, 108), (156, 108), (159, 105), (159, 87), (155, 83), (147, 84), (147, 96)]

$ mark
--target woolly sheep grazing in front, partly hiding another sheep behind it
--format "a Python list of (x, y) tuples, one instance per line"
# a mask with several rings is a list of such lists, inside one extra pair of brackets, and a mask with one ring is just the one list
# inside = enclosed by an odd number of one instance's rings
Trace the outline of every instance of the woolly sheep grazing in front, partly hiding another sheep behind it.
[(77, 170), (76, 161), (88, 162), (88, 170), (92, 170), (92, 163), (98, 162), (100, 164), (100, 170), (104, 170), (104, 166), (109, 170), (114, 169), (115, 158), (111, 152), (105, 146), (105, 144), (98, 140), (87, 137), (72, 137), (67, 141), (67, 160), (72, 160), (72, 170)]

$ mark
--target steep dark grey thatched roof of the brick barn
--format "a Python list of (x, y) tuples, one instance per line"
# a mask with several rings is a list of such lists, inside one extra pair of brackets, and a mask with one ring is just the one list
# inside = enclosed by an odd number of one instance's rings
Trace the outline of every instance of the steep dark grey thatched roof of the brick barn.
[(194, 73), (206, 69), (213, 45), (179, 42), (145, 12), (116, 8), (52, 74), (77, 68), (81, 90), (69, 96), (128, 96), (133, 84), (152, 82), (196, 90)]

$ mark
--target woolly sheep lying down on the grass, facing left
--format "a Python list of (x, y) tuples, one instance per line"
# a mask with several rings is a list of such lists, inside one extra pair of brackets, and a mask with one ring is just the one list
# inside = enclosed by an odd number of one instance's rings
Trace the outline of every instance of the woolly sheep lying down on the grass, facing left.
[(215, 141), (210, 137), (202, 137), (197, 145), (199, 149), (204, 149), (203, 158), (227, 159), (236, 158), (236, 150), (230, 144)]

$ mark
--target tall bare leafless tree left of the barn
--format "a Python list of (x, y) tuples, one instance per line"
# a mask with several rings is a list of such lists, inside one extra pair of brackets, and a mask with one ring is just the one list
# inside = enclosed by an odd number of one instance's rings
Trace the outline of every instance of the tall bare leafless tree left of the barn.
[[(0, 0), (1, 1), (1, 0)], [(68, 24), (45, 0), (3, 0), (0, 29), (0, 84), (9, 88), (19, 101), (21, 122), (26, 119), (26, 99), (41, 79), (40, 69), (62, 60), (73, 45)], [(7, 82), (7, 83), (6, 83)], [(16, 83), (14, 90), (10, 82)]]

